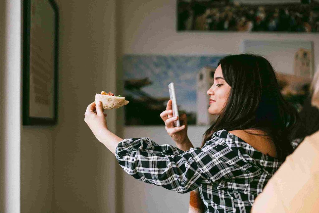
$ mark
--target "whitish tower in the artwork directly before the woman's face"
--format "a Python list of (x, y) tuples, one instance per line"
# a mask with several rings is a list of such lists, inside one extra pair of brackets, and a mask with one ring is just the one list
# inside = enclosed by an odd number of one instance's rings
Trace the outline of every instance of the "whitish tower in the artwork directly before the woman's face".
[(217, 118), (208, 113), (209, 95), (207, 90), (214, 84), (216, 67), (205, 66), (197, 74), (197, 125), (211, 125)]

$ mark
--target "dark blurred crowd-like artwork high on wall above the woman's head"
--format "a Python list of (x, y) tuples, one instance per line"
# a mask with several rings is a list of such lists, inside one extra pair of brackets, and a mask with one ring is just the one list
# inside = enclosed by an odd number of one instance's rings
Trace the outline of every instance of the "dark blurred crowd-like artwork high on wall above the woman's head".
[(178, 31), (319, 32), (318, 0), (177, 0)]

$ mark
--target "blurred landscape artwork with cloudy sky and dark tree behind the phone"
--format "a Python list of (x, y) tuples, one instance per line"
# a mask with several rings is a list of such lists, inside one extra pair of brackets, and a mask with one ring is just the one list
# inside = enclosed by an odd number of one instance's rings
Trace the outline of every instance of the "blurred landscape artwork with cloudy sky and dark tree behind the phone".
[(163, 125), (160, 113), (169, 100), (168, 84), (174, 82), (179, 115), (189, 125), (211, 125), (207, 90), (223, 56), (124, 55), (125, 125)]

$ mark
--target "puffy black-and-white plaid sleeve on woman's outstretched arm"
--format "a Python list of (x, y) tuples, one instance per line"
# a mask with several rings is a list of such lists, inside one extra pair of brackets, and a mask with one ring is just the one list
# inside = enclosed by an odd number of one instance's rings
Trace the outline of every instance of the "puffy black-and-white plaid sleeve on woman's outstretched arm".
[(244, 183), (262, 173), (218, 139), (206, 142), (203, 148), (182, 151), (171, 145), (158, 145), (150, 138), (129, 138), (118, 144), (115, 156), (135, 179), (178, 193), (221, 179), (236, 177)]

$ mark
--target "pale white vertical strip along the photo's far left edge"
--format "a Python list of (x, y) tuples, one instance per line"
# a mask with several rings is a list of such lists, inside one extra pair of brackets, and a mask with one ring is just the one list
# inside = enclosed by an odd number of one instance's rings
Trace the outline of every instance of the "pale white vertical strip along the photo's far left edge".
[(0, 7), (0, 212), (20, 212), (21, 7)]

